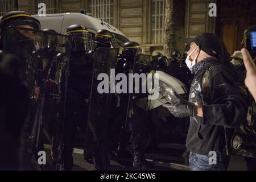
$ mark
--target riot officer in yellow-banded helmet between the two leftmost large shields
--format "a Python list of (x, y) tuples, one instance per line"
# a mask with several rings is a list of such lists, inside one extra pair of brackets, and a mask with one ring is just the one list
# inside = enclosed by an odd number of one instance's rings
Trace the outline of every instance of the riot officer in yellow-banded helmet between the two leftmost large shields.
[(66, 34), (71, 38), (71, 57), (65, 115), (64, 169), (71, 170), (77, 127), (85, 130), (86, 126), (93, 59), (89, 53), (92, 50), (92, 36), (86, 27), (73, 24), (67, 28)]

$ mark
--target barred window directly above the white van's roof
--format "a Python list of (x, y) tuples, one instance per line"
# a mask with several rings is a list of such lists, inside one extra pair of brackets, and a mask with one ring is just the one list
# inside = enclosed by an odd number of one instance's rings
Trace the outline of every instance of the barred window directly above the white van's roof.
[(95, 18), (113, 24), (113, 0), (90, 0), (88, 13)]

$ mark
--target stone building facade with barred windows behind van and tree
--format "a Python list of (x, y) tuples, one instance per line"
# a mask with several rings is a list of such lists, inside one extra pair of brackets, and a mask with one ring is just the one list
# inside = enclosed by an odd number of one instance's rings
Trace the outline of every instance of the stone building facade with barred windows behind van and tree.
[[(256, 23), (254, 0), (18, 0), (18, 9), (30, 14), (38, 12), (44, 2), (47, 14), (71, 13), (85, 9), (121, 30), (127, 38), (138, 42), (144, 53), (163, 52), (166, 1), (172, 1), (172, 47), (184, 51), (185, 38), (202, 32), (216, 33), (224, 40), (229, 53), (241, 48), (242, 32)], [(0, 15), (14, 10), (15, 0), (0, 0)], [(217, 17), (210, 17), (209, 3), (217, 4)]]

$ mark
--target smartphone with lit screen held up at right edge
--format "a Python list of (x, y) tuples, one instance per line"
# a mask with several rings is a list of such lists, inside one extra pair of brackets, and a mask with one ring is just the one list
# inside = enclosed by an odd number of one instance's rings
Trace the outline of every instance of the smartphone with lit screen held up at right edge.
[(250, 26), (244, 32), (245, 48), (250, 52), (251, 57), (256, 56), (256, 25)]

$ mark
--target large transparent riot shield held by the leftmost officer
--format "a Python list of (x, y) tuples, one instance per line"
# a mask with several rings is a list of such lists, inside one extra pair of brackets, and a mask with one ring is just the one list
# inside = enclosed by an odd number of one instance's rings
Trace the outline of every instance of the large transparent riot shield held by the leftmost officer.
[[(30, 95), (31, 106), (22, 143), (24, 160), (38, 156), (43, 143), (63, 150), (65, 94), (70, 40), (68, 36), (30, 28), (10, 27), (3, 36), (3, 51), (19, 57), (19, 75)], [(43, 140), (43, 136), (48, 140)], [(24, 141), (25, 140), (25, 141)], [(25, 156), (26, 155), (26, 156)], [(34, 160), (35, 161), (35, 160)], [(38, 166), (37, 160), (34, 163)]]

